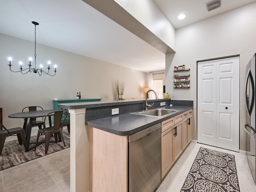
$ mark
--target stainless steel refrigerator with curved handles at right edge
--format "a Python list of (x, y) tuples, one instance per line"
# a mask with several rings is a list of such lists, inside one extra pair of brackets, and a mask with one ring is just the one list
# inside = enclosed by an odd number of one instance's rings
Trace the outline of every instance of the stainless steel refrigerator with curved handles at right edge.
[(246, 150), (247, 161), (252, 173), (252, 178), (256, 183), (256, 109), (255, 109), (255, 67), (256, 54), (252, 57), (246, 66), (247, 76), (245, 82), (246, 94), (246, 124), (244, 130), (246, 131)]

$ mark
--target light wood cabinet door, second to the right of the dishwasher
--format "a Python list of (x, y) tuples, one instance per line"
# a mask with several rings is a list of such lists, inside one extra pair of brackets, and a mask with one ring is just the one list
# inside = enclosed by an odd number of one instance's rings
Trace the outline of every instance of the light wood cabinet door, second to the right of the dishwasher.
[[(180, 154), (182, 154), (183, 144), (182, 144), (182, 126), (183, 121), (179, 122), (174, 126), (174, 161), (178, 159)], [(176, 129), (176, 130), (175, 130)], [(176, 134), (175, 134), (176, 131)]]

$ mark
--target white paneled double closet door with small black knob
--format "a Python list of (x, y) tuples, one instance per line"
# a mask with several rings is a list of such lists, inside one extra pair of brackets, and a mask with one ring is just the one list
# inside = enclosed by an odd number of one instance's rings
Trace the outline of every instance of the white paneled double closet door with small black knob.
[(239, 151), (239, 56), (198, 62), (197, 140)]

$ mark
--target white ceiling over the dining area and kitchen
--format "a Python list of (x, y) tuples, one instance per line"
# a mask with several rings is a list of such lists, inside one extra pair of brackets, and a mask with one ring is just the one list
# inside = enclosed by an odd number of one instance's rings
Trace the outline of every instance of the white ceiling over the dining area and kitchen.
[[(180, 28), (256, 0), (223, 0), (223, 7), (211, 12), (204, 7), (207, 0), (154, 1)], [(180, 13), (187, 15), (182, 21), (177, 19)], [(162, 52), (82, 0), (0, 0), (0, 18), (2, 34), (34, 42), (31, 22), (36, 21), (37, 43), (143, 72), (165, 69)]]

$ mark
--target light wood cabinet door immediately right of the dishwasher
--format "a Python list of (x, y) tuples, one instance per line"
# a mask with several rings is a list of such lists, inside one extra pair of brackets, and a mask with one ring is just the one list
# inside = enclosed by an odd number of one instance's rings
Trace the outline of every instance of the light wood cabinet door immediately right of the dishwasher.
[(161, 134), (161, 179), (164, 178), (174, 163), (173, 134), (173, 127)]

